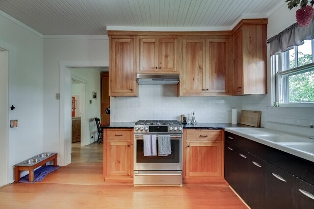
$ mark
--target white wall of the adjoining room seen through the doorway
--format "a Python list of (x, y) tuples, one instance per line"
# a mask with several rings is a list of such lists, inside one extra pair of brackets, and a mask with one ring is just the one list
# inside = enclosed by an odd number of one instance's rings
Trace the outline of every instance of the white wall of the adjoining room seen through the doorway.
[[(95, 68), (71, 69), (71, 76), (75, 75), (76, 77), (87, 81), (86, 101), (81, 101), (86, 104), (86, 144), (93, 143), (98, 136), (94, 117), (100, 117), (100, 73), (100, 70)], [(97, 99), (92, 98), (93, 92), (97, 93)], [(92, 101), (91, 104), (89, 103), (89, 100)], [(93, 136), (93, 139), (91, 139), (91, 136)]]

